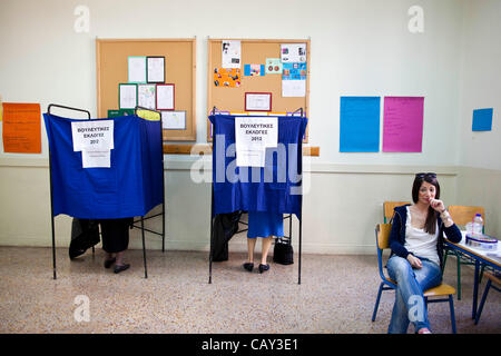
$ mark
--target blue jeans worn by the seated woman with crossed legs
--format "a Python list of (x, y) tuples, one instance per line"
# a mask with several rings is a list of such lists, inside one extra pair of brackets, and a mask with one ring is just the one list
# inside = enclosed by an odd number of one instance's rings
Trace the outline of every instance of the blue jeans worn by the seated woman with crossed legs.
[(421, 259), (422, 268), (413, 268), (405, 258), (399, 256), (392, 256), (387, 261), (389, 276), (396, 281), (389, 334), (406, 334), (409, 323), (414, 325), (416, 332), (423, 327), (430, 328), (423, 290), (440, 285), (442, 271), (435, 263), (418, 258)]

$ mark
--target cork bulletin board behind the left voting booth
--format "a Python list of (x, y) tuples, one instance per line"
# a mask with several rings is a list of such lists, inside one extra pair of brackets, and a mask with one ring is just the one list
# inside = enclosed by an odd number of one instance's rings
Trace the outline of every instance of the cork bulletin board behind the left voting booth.
[(165, 81), (174, 85), (174, 110), (186, 111), (184, 129), (164, 129), (164, 141), (196, 140), (196, 39), (96, 39), (98, 117), (119, 108), (119, 83), (128, 82), (129, 57), (165, 57)]

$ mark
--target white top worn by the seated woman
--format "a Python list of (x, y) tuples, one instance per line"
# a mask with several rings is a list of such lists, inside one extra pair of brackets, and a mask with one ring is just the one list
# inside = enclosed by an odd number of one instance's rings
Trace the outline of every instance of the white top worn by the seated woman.
[(439, 239), (439, 227), (435, 234), (431, 235), (424, 229), (418, 229), (411, 224), (411, 210), (407, 206), (407, 220), (405, 222), (405, 244), (407, 251), (413, 253), (416, 257), (424, 257), (440, 266), (439, 254), (436, 253), (436, 243)]

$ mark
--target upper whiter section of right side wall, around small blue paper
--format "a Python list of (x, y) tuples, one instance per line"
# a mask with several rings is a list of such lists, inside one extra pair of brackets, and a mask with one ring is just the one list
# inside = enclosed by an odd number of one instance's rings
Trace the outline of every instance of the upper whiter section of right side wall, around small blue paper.
[[(468, 167), (501, 170), (501, 1), (464, 7), (461, 66), (461, 159)], [(474, 109), (494, 108), (492, 131), (473, 132)]]

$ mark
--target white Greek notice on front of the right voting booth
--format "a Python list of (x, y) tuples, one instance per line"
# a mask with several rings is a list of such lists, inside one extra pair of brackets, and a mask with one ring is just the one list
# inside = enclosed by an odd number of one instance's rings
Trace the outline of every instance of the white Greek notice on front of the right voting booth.
[(236, 164), (238, 167), (264, 167), (267, 147), (278, 145), (278, 118), (235, 118)]

